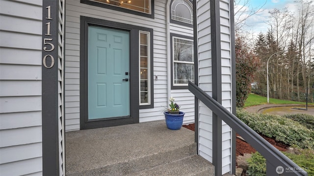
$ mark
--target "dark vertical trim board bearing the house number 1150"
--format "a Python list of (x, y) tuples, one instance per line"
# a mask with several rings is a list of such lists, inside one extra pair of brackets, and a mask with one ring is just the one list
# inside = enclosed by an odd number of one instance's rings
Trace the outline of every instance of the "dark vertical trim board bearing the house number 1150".
[(60, 169), (59, 168), (59, 136), (58, 136), (59, 1), (43, 0), (42, 8), (43, 8), (43, 16), (42, 16), (43, 175), (59, 176), (59, 169)]

